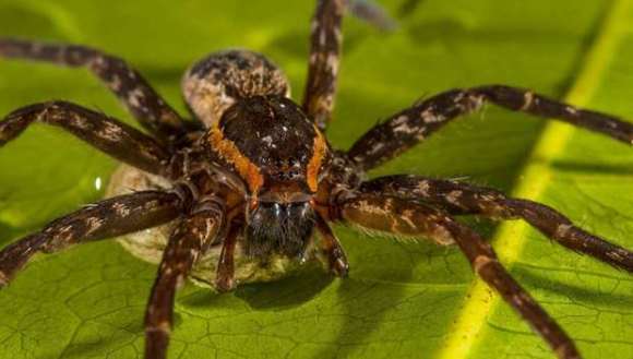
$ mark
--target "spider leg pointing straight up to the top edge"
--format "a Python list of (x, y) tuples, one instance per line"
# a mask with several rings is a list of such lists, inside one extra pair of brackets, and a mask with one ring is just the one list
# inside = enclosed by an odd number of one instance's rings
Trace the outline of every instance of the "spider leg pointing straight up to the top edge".
[(319, 0), (312, 19), (303, 109), (325, 130), (334, 108), (346, 0)]

